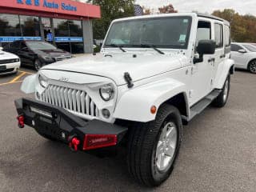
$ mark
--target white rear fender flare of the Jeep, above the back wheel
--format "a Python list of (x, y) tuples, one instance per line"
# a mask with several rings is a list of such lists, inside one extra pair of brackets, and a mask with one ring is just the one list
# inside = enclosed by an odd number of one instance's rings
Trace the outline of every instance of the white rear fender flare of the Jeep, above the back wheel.
[[(232, 72), (232, 74), (234, 73), (234, 67), (232, 68), (232, 66), (234, 66), (234, 60), (232, 59), (227, 59), (225, 62), (218, 65), (214, 84), (215, 89), (221, 90), (224, 86), (227, 75), (230, 72)], [(230, 71), (230, 69), (232, 69), (232, 71)]]

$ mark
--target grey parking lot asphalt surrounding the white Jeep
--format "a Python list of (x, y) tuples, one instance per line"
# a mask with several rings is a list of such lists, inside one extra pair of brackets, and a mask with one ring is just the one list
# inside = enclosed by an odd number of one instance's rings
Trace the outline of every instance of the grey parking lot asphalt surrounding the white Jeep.
[(125, 153), (110, 158), (70, 152), (18, 129), (14, 99), (23, 74), (0, 77), (0, 191), (256, 191), (256, 75), (238, 71), (225, 108), (208, 107), (184, 127), (171, 177), (154, 189), (128, 174)]

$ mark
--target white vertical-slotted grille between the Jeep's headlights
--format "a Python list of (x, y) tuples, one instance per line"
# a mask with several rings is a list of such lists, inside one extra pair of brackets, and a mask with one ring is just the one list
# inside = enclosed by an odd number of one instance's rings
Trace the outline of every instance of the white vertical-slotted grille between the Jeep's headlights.
[(62, 86), (49, 85), (41, 98), (54, 106), (60, 106), (80, 114), (99, 116), (99, 110), (90, 96), (83, 90), (74, 90)]

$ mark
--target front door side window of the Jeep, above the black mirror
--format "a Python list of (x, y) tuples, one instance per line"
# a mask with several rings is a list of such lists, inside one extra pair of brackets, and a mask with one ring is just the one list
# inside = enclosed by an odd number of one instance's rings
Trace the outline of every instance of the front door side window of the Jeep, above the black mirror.
[(198, 46), (198, 42), (200, 40), (210, 40), (210, 39), (211, 39), (210, 22), (199, 21), (196, 45)]

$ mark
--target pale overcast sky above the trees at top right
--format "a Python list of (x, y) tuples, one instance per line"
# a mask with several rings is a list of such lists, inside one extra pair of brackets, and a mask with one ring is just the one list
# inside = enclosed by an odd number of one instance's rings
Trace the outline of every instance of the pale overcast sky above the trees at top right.
[(141, 6), (158, 8), (173, 4), (178, 12), (191, 12), (211, 14), (213, 10), (234, 9), (239, 14), (254, 14), (256, 16), (256, 0), (136, 0)]

